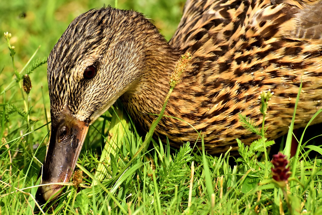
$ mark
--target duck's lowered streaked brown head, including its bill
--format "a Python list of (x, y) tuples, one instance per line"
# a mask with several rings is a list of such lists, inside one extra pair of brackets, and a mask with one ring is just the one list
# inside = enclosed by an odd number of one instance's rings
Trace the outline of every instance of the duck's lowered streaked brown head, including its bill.
[[(104, 7), (71, 22), (48, 57), (52, 126), (41, 184), (69, 181), (89, 125), (123, 93), (137, 89), (160, 43), (167, 46), (135, 11)], [(36, 197), (53, 199), (62, 187), (41, 186)]]

